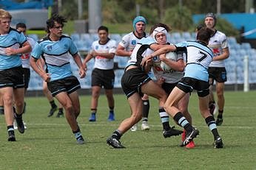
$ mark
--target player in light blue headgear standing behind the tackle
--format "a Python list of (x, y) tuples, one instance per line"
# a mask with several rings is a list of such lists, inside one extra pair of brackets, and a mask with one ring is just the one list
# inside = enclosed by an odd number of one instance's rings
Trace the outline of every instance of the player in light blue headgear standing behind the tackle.
[[(118, 44), (115, 54), (122, 57), (130, 57), (133, 49), (141, 38), (146, 37), (146, 18), (143, 16), (136, 16), (132, 21), (133, 31), (129, 32), (127, 35), (124, 35), (121, 42)], [(143, 117), (141, 130), (149, 130), (148, 124), (149, 116), (149, 97), (144, 94), (143, 96)], [(137, 130), (137, 124), (132, 128), (132, 131)]]

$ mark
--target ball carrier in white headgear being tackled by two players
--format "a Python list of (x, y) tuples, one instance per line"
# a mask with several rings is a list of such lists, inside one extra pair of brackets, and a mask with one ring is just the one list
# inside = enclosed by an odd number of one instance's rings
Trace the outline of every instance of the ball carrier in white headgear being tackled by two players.
[[(169, 32), (169, 26), (161, 23), (157, 24), (156, 26), (159, 26), (159, 27), (153, 27), (154, 29), (150, 31), (152, 37), (160, 45), (169, 44), (166, 40), (167, 33)], [(146, 55), (153, 53), (152, 50), (147, 50), (147, 51), (149, 52)], [(161, 88), (164, 89), (167, 95), (171, 93), (172, 89), (175, 88), (175, 85), (177, 85), (178, 82), (183, 77), (183, 68), (185, 67), (184, 59), (183, 59), (184, 53), (186, 52), (177, 52), (176, 53), (177, 57), (175, 60), (167, 59), (165, 54), (161, 54), (159, 56), (155, 56), (152, 58), (152, 61), (153, 61), (152, 68), (154, 71), (154, 75), (158, 81), (158, 84), (161, 85)], [(166, 63), (166, 65), (169, 65), (169, 67), (172, 68), (172, 70), (164, 71), (159, 66), (159, 63), (161, 62), (164, 62)], [(178, 108), (181, 109), (181, 113), (183, 113), (183, 115), (186, 117), (189, 123), (192, 124), (192, 118), (189, 114), (188, 105), (189, 105), (189, 93), (186, 93), (186, 95), (183, 96), (181, 101), (178, 102)], [(166, 112), (164, 112), (164, 114), (161, 113), (160, 116), (161, 116), (162, 124), (164, 126), (166, 126), (166, 124), (168, 125), (169, 115)], [(183, 130), (181, 141), (184, 141), (185, 136), (186, 136), (186, 131)], [(193, 148), (193, 147), (195, 147), (194, 141), (191, 141), (189, 144), (186, 145), (186, 148)]]

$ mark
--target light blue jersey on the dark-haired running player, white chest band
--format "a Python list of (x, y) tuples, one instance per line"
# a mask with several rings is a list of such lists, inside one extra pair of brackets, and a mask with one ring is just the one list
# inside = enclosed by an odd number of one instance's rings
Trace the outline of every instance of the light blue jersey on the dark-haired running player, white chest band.
[(31, 56), (44, 59), (46, 71), (50, 73), (50, 81), (53, 81), (73, 75), (70, 67), (70, 54), (76, 53), (78, 50), (71, 38), (62, 35), (58, 41), (52, 41), (49, 37), (39, 41)]

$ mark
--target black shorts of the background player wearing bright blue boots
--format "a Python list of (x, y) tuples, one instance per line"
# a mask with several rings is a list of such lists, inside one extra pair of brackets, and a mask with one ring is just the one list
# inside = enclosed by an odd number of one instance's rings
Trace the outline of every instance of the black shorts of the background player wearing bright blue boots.
[(100, 86), (105, 89), (113, 89), (115, 82), (114, 70), (101, 70), (94, 68), (92, 71), (92, 86)]

